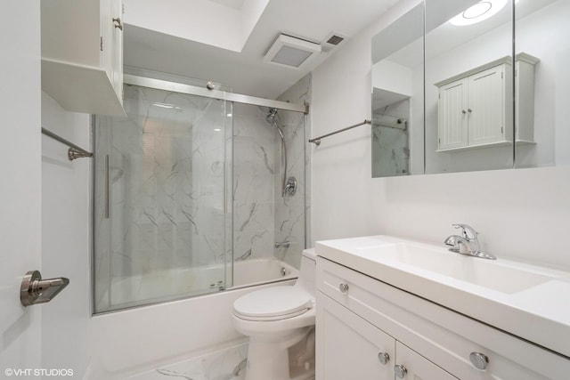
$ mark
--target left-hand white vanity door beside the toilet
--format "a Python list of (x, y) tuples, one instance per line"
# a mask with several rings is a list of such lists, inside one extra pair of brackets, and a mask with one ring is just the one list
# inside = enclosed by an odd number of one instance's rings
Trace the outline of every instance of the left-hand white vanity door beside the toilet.
[[(317, 293), (317, 379), (394, 379), (394, 338)], [(385, 365), (380, 352), (389, 357)]]

